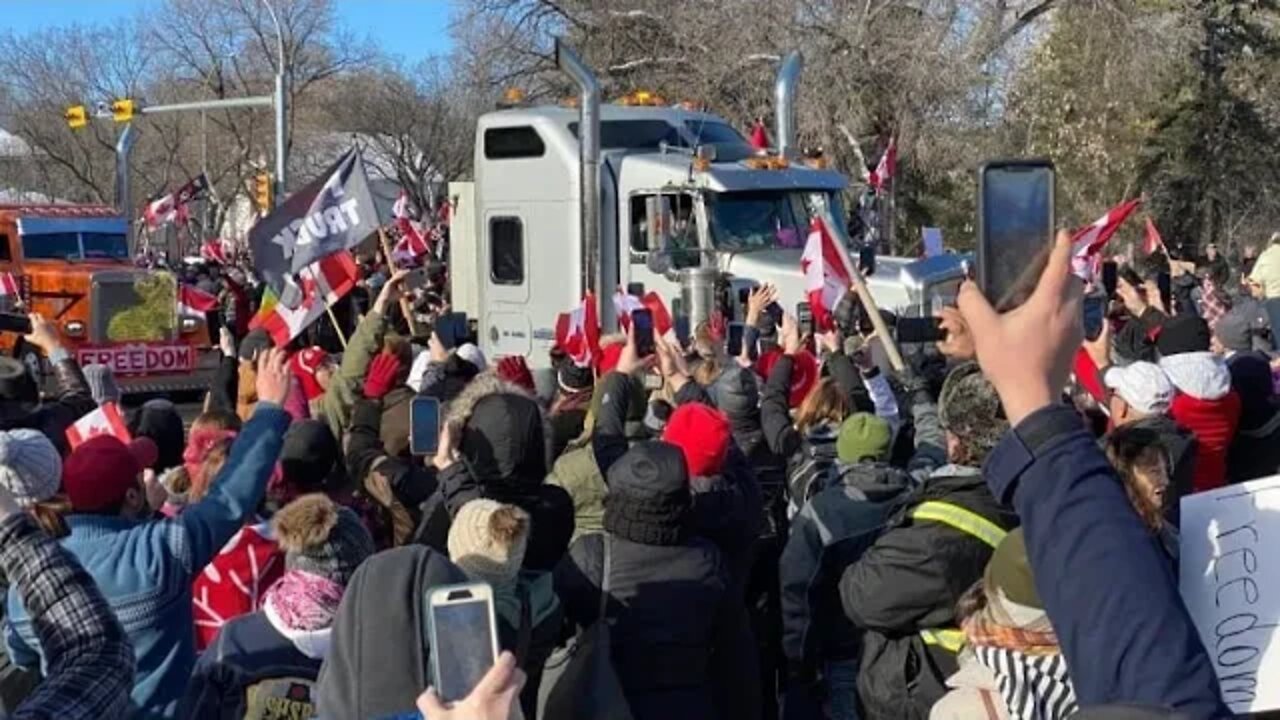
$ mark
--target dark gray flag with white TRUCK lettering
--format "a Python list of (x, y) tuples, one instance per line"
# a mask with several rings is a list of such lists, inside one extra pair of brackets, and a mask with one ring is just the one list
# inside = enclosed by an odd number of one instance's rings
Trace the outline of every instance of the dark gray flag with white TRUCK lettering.
[(285, 277), (360, 245), (378, 231), (378, 210), (369, 191), (365, 161), (348, 150), (325, 173), (294, 192), (248, 232), (253, 266), (283, 291)]

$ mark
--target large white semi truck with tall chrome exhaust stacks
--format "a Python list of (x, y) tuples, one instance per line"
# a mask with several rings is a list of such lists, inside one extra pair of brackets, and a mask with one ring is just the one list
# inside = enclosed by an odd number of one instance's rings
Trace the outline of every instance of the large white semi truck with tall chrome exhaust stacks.
[[(590, 70), (562, 45), (556, 54), (580, 87), (577, 106), (483, 115), (475, 181), (449, 184), (453, 306), (476, 319), (490, 357), (524, 355), (541, 374), (557, 315), (588, 290), (605, 332), (612, 295), (632, 283), (662, 293), (691, 327), (716, 309), (741, 318), (737, 290), (758, 283), (778, 286), (794, 311), (814, 217), (858, 258), (846, 178), (795, 147), (797, 53), (778, 72), (778, 147), (767, 155), (708, 113), (645, 94), (600, 104)], [(882, 309), (920, 314), (954, 297), (961, 277), (959, 256), (882, 256), (868, 287)]]

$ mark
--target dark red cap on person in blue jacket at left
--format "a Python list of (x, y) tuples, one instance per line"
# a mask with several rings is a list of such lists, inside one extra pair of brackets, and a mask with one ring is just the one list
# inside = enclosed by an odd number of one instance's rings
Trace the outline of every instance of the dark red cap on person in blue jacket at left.
[(151, 438), (124, 445), (115, 436), (95, 436), (63, 461), (63, 489), (76, 512), (99, 512), (119, 505), (124, 493), (138, 487), (142, 470), (159, 455)]

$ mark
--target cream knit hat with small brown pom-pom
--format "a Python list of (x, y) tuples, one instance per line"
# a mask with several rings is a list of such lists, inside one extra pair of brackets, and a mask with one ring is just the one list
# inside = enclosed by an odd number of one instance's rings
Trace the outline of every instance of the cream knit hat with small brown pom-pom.
[(527, 542), (527, 512), (493, 500), (472, 500), (449, 527), (449, 560), (467, 577), (500, 587), (516, 579)]

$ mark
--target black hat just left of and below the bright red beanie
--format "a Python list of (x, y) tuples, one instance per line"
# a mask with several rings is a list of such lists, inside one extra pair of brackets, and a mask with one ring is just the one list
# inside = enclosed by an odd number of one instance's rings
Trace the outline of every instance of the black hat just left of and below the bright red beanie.
[(643, 442), (609, 468), (604, 529), (640, 544), (680, 544), (687, 537), (689, 468), (678, 447)]

